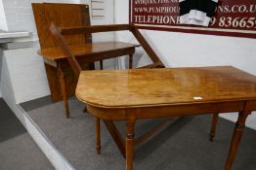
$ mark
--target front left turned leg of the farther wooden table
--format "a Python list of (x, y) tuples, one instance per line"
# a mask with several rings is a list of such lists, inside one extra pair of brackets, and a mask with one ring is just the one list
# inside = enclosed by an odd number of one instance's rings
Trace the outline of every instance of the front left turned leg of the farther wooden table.
[(64, 71), (60, 66), (58, 67), (58, 76), (59, 76), (62, 94), (63, 94), (65, 117), (69, 119), (69, 109), (68, 109), (68, 101), (67, 101), (68, 97), (66, 93), (65, 76), (64, 76)]

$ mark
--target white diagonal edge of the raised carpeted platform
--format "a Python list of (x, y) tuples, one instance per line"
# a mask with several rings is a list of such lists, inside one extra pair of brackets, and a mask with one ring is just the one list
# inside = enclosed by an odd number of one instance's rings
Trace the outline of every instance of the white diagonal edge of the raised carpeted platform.
[(46, 137), (37, 124), (29, 118), (26, 112), (20, 105), (15, 104), (5, 99), (5, 102), (15, 113), (16, 117), (20, 119), (23, 126), (26, 128), (29, 135), (33, 138), (35, 143), (46, 155), (49, 161), (53, 164), (57, 170), (75, 170), (75, 168), (65, 159), (64, 155), (60, 153), (52, 142)]

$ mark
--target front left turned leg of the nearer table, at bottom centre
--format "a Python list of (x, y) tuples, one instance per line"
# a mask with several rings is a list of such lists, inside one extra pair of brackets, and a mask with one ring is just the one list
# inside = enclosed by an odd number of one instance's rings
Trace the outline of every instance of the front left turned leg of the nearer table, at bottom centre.
[(126, 121), (126, 170), (133, 169), (133, 154), (134, 154), (134, 125), (135, 120)]

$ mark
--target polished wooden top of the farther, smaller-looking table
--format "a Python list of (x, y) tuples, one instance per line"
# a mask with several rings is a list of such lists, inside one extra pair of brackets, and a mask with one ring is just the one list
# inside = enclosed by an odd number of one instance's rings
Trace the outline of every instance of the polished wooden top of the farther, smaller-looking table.
[[(107, 52), (107, 51), (117, 51), (123, 49), (130, 49), (139, 47), (139, 45), (123, 43), (123, 42), (99, 42), (99, 43), (86, 43), (70, 45), (68, 48), (75, 55), (90, 55), (95, 53)], [(60, 47), (42, 49), (38, 52), (40, 55), (44, 56), (49, 60), (58, 60), (65, 58), (64, 52)]]

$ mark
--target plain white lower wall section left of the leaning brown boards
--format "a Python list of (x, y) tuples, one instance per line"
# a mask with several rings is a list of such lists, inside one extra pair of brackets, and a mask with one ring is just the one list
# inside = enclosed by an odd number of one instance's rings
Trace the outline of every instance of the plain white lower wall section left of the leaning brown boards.
[(43, 59), (33, 48), (6, 50), (3, 58), (13, 87), (15, 103), (50, 94)]

